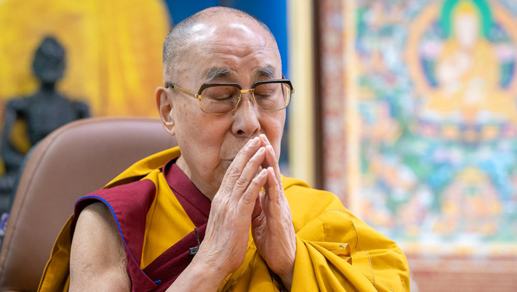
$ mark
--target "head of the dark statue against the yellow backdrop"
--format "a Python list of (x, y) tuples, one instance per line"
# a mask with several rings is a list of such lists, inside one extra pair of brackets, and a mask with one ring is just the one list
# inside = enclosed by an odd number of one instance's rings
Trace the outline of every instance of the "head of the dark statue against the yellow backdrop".
[(32, 69), (42, 83), (55, 83), (65, 72), (65, 49), (52, 36), (46, 36), (34, 53)]

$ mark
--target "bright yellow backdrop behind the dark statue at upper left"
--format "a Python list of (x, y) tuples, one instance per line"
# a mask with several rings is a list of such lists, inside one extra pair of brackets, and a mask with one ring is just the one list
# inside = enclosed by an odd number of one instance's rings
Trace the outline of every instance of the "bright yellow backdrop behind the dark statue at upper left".
[(6, 0), (0, 27), (1, 101), (37, 90), (34, 50), (51, 34), (67, 53), (59, 92), (87, 101), (94, 116), (157, 116), (152, 101), (170, 28), (162, 1)]

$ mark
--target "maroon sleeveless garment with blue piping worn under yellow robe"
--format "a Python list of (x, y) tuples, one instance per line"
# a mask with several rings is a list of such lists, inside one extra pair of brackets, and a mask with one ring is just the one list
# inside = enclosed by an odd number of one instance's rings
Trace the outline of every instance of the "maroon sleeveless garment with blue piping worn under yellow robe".
[[(174, 160), (165, 164), (163, 176), (181, 207), (185, 209), (187, 216), (194, 222), (199, 233), (199, 240), (202, 241), (210, 214), (210, 200), (201, 194), (201, 191), (179, 169)], [(192, 261), (193, 255), (190, 255), (189, 249), (198, 246), (196, 233), (193, 230), (159, 255), (148, 267), (143, 270), (140, 268), (145, 222), (155, 196), (154, 182), (145, 179), (94, 191), (88, 196), (80, 198), (75, 205), (72, 234), (79, 213), (92, 202), (103, 202), (112, 212), (128, 260), (127, 269), (132, 283), (131, 291), (167, 290)]]

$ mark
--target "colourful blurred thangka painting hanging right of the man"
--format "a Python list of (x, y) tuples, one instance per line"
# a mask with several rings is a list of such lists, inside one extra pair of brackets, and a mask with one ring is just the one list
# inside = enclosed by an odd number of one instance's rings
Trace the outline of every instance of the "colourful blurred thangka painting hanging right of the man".
[(409, 252), (516, 255), (517, 1), (355, 9), (361, 218)]

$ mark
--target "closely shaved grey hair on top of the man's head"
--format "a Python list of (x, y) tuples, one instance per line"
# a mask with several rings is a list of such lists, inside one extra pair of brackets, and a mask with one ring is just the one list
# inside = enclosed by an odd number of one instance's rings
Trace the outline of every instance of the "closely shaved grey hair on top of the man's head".
[[(201, 23), (216, 26), (221, 19), (228, 19), (232, 17), (237, 19), (240, 23), (254, 23), (258, 24), (267, 36), (270, 36), (276, 45), (276, 40), (271, 30), (261, 20), (254, 17), (252, 14), (228, 7), (211, 7), (201, 10), (196, 14), (183, 19), (170, 30), (163, 41), (163, 74), (170, 76), (174, 74), (174, 65), (184, 60), (187, 52), (190, 51), (190, 46), (196, 38), (196, 28), (199, 28)], [(277, 48), (278, 50), (278, 48)]]

